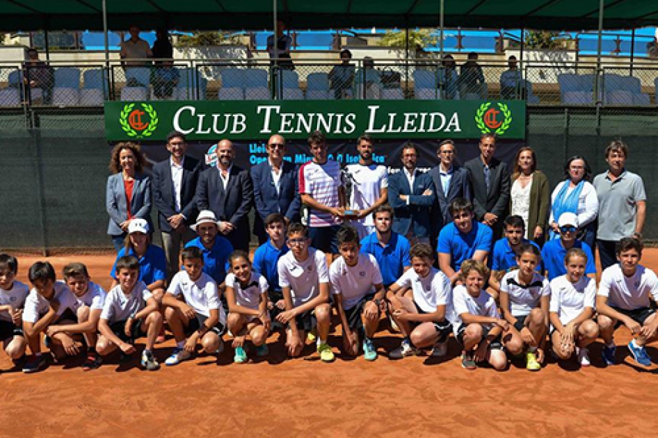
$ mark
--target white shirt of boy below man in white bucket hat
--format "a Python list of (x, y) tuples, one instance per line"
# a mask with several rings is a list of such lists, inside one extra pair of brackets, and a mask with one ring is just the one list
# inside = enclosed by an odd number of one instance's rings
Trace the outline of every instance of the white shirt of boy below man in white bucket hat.
[(187, 305), (200, 315), (209, 317), (210, 309), (218, 309), (220, 323), (226, 323), (217, 283), (207, 273), (201, 273), (197, 281), (193, 282), (188, 273), (181, 270), (171, 279), (167, 292), (176, 297), (183, 295)]

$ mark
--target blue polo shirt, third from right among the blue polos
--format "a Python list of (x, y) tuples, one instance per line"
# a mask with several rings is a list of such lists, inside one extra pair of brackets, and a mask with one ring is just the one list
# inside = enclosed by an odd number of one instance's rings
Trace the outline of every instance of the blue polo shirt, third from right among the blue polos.
[(436, 252), (450, 254), (450, 266), (460, 270), (463, 261), (472, 259), (476, 251), (490, 251), (493, 232), (488, 225), (473, 221), (473, 228), (464, 234), (451, 222), (439, 233)]

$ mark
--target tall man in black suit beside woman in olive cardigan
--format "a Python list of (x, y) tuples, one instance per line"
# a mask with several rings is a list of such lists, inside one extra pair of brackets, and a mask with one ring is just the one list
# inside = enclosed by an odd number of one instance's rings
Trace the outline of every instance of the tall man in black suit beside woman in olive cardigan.
[(510, 201), (510, 173), (506, 163), (494, 158), (496, 152), (496, 135), (482, 134), (480, 138), (480, 156), (467, 161), (475, 218), (492, 227), (494, 242), (502, 236), (503, 219), (507, 217)]

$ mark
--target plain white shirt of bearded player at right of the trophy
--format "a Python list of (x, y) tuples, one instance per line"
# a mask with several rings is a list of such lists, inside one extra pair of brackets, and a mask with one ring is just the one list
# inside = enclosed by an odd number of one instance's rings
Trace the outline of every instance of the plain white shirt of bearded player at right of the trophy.
[[(388, 170), (383, 165), (350, 164), (346, 166), (352, 176), (352, 193), (350, 208), (354, 210), (368, 209), (380, 197), (381, 189), (388, 187)], [(374, 226), (375, 221), (370, 213), (359, 220), (362, 225)]]

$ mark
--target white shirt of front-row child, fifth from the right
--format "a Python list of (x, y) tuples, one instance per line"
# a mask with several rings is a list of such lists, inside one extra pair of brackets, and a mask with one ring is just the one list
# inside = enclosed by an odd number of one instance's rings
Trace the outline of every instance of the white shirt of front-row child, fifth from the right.
[(450, 279), (437, 268), (432, 267), (424, 278), (415, 270), (409, 269), (395, 284), (401, 288), (410, 288), (414, 294), (414, 302), (422, 311), (433, 313), (437, 306), (446, 306), (445, 316), (451, 318), (452, 306)]

